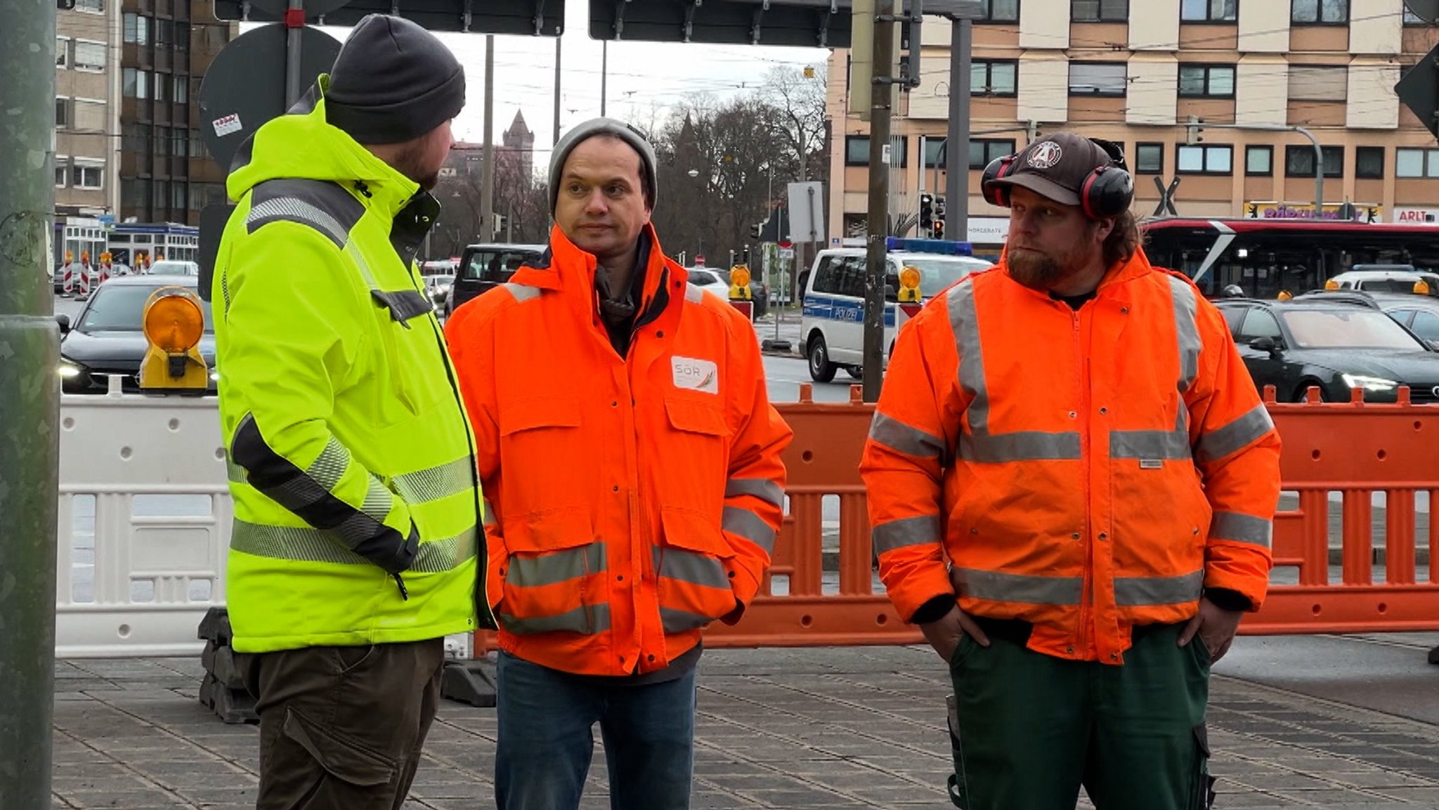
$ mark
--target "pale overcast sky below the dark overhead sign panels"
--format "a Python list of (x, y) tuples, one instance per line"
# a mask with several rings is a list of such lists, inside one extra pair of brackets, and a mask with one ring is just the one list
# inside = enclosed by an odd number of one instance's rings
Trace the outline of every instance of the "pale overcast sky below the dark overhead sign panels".
[[(245, 26), (249, 27), (249, 26)], [(566, 33), (561, 37), (560, 127), (600, 114), (602, 45), (589, 36), (589, 3), (566, 3)], [(325, 27), (344, 39), (350, 30)], [(463, 141), (484, 140), (485, 36), (440, 33), (465, 65), (468, 102), (455, 122)], [(649, 119), (652, 104), (673, 105), (689, 95), (709, 92), (728, 96), (764, 82), (776, 65), (823, 66), (829, 50), (819, 47), (717, 46), (658, 42), (612, 42), (609, 47), (609, 104), (613, 118)], [(820, 76), (823, 76), (823, 70)], [(554, 37), (495, 36), (494, 138), (522, 111), (535, 134), (535, 165), (544, 165), (553, 145)]]

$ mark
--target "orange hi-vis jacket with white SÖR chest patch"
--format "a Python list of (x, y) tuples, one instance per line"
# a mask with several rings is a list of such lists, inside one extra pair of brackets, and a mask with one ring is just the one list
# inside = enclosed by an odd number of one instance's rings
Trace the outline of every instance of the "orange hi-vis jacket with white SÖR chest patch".
[(599, 315), (594, 256), (560, 229), (541, 266), (446, 325), (499, 646), (564, 672), (653, 672), (711, 620), (737, 622), (783, 517), (793, 433), (754, 328), (648, 237), (627, 358)]

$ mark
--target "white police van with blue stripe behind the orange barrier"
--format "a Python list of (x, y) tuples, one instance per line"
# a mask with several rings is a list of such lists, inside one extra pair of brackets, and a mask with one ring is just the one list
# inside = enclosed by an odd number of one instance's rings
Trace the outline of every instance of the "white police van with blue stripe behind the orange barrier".
[[(894, 350), (895, 334), (920, 305), (964, 276), (990, 266), (970, 255), (966, 242), (944, 239), (886, 240), (885, 269), (885, 357)], [(907, 272), (909, 269), (914, 272)], [(918, 295), (901, 289), (902, 281), (917, 282)], [(829, 383), (835, 371), (845, 368), (850, 377), (861, 377), (865, 352), (865, 249), (830, 247), (814, 256), (806, 273), (804, 302), (800, 315), (800, 338), (809, 358), (810, 377)], [(901, 304), (901, 295), (911, 301)], [(912, 302), (918, 298), (918, 302)]]

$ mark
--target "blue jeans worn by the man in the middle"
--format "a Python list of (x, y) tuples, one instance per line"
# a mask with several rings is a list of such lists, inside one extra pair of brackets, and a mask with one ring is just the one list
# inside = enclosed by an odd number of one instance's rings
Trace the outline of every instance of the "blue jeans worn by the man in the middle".
[(609, 686), (499, 653), (499, 810), (576, 810), (596, 722), (612, 810), (688, 810), (695, 763), (695, 670), (648, 686)]

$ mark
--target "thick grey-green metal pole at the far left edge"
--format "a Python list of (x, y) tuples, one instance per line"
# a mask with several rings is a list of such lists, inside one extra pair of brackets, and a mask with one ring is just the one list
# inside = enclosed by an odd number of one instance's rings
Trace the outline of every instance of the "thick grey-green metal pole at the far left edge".
[[(50, 807), (60, 341), (55, 237), (55, 4), (0, 3), (0, 807)], [(46, 145), (40, 145), (46, 144)], [(40, 164), (36, 165), (35, 161)]]

